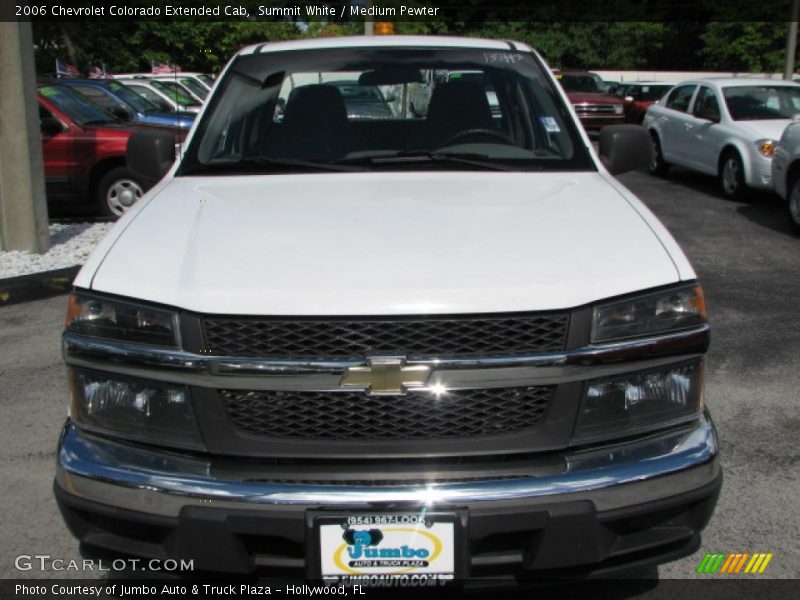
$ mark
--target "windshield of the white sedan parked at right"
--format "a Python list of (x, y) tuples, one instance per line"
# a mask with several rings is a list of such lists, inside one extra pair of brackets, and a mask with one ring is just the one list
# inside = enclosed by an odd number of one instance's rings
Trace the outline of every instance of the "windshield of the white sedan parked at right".
[(723, 88), (734, 121), (791, 119), (800, 112), (800, 86), (752, 85)]

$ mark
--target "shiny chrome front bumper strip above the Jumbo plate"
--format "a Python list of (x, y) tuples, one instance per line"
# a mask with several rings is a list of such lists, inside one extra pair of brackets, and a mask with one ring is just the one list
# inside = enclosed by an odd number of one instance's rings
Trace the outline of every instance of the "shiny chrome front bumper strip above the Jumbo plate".
[[(630, 484), (653, 481), (663, 495), (673, 495), (675, 488), (659, 485), (658, 478), (700, 473), (693, 485), (708, 483), (718, 472), (717, 452), (714, 426), (704, 414), (677, 430), (565, 452), (564, 470), (540, 477), (396, 487), (256, 483), (215, 478), (210, 459), (110, 441), (68, 424), (59, 445), (56, 478), (74, 496), (164, 516), (177, 516), (188, 505), (432, 506), (583, 492), (607, 492), (613, 494), (607, 502), (625, 505), (633, 503)], [(708, 468), (699, 470), (702, 466)]]

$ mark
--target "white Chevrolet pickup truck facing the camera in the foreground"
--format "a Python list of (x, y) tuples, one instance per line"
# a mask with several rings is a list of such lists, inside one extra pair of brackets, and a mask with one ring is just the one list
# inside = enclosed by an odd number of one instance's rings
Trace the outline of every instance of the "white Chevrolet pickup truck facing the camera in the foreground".
[[(443, 81), (424, 119), (335, 81)], [(296, 86), (279, 111), (281, 90)], [(341, 77), (339, 77), (341, 79)], [(721, 486), (703, 293), (521, 43), (258, 44), (75, 280), (55, 484), (85, 553), (344, 583), (603, 576), (694, 552)]]

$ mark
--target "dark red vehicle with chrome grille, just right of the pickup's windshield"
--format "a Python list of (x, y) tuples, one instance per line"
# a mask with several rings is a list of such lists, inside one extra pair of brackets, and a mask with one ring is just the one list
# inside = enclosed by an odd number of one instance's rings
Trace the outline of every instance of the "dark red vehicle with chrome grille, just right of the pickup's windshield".
[(625, 122), (625, 103), (600, 87), (599, 77), (588, 71), (561, 71), (556, 79), (567, 93), (586, 131)]

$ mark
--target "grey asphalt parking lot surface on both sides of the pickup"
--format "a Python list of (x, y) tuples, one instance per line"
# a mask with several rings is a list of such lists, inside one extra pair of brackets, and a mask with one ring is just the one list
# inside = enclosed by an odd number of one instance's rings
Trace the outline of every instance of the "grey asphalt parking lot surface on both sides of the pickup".
[[(765, 576), (798, 578), (800, 237), (789, 231), (774, 196), (728, 201), (712, 179), (686, 171), (621, 180), (694, 263), (712, 326), (705, 398), (719, 430), (725, 482), (701, 549), (661, 566), (660, 578), (696, 576), (705, 552), (772, 552)], [(0, 308), (0, 578), (91, 575), (14, 567), (20, 554), (79, 558), (51, 492), (66, 415), (64, 307), (61, 296)]]

